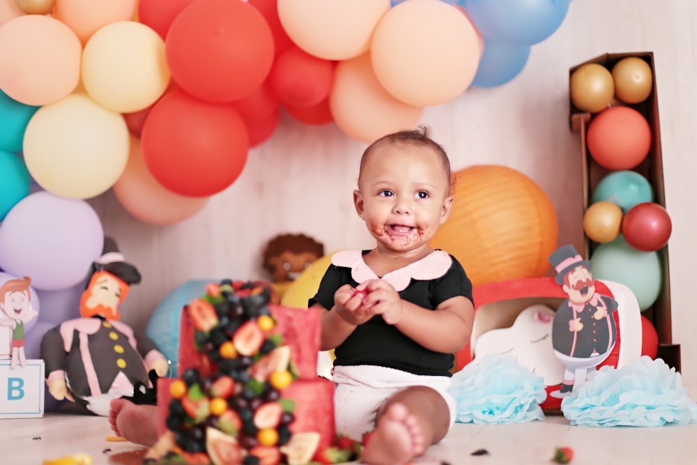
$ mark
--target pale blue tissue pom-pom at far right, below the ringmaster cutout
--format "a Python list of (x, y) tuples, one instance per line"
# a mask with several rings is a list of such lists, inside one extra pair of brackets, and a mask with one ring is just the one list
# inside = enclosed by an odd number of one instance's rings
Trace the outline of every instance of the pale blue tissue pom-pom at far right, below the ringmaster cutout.
[(656, 427), (697, 422), (697, 404), (682, 376), (657, 358), (643, 356), (620, 369), (605, 366), (562, 400), (572, 425)]

